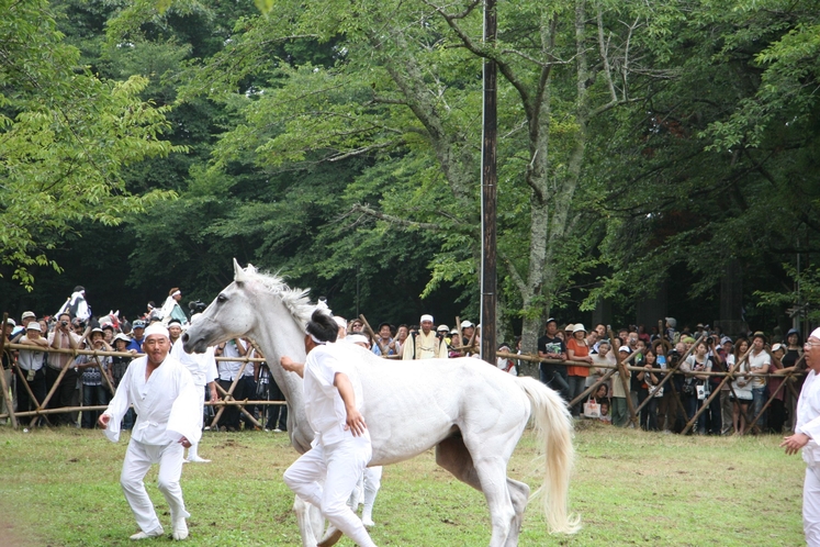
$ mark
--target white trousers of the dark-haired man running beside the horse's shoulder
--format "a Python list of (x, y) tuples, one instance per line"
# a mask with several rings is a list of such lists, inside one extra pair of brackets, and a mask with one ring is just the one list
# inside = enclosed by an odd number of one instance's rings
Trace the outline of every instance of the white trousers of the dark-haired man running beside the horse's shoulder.
[(372, 455), (369, 438), (351, 437), (330, 446), (317, 444), (284, 472), (288, 488), (319, 507), (325, 518), (360, 547), (375, 544), (346, 502)]

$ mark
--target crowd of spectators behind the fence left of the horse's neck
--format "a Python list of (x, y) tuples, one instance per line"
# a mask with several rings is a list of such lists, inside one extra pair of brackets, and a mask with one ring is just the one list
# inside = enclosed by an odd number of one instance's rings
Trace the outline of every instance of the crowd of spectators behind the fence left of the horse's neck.
[[(149, 302), (147, 310), (133, 321), (121, 319), (119, 313), (103, 316), (92, 315), (86, 302), (85, 289), (77, 287), (66, 303), (53, 316), (38, 319), (33, 311), (25, 311), (18, 324), (9, 319), (3, 325), (5, 348), (2, 351), (2, 366), (5, 384), (10, 393), (0, 392), (1, 414), (8, 414), (9, 404), (15, 412), (35, 411), (37, 408), (49, 410), (66, 409), (66, 412), (48, 413), (41, 417), (22, 416), (23, 426), (69, 425), (93, 428), (100, 411), (94, 408), (109, 403), (128, 364), (142, 354), (145, 328), (155, 321), (161, 321), (171, 333), (172, 343), (177, 343), (189, 316), (179, 304), (182, 298), (178, 288), (172, 288), (161, 308)], [(192, 302), (191, 312), (202, 311), (204, 304)], [(11, 349), (8, 344), (19, 344)], [(31, 348), (30, 348), (31, 347)], [(50, 351), (63, 349), (66, 351)], [(97, 350), (115, 355), (89, 355), (77, 350)], [(250, 346), (248, 341), (229, 341), (215, 348), (214, 355), (225, 357), (262, 357)], [(284, 401), (281, 391), (272, 381), (270, 369), (263, 361), (225, 360), (217, 364), (218, 378), (215, 380), (231, 391), (233, 399)], [(236, 386), (233, 386), (237, 380)], [(2, 390), (0, 390), (2, 391)], [(52, 393), (50, 397), (47, 397)], [(203, 397), (210, 399), (210, 391)], [(246, 406), (254, 418), (262, 421), (266, 428), (287, 429), (287, 406), (259, 405)], [(206, 423), (211, 423), (214, 411), (206, 408)], [(226, 429), (239, 428), (239, 410), (227, 405), (217, 426)], [(136, 416), (133, 409), (126, 413), (122, 427), (130, 429)], [(210, 418), (210, 420), (209, 420)], [(4, 424), (8, 418), (0, 418)], [(250, 420), (245, 420), (246, 427), (256, 427)]]

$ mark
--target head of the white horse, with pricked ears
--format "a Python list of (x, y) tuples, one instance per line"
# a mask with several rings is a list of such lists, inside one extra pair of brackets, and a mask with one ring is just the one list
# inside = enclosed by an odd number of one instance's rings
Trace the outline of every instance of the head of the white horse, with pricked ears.
[[(248, 265), (249, 269), (252, 269)], [(259, 302), (248, 290), (245, 270), (234, 259), (234, 282), (225, 287), (182, 335), (188, 353), (204, 353), (207, 346), (247, 335), (256, 326), (255, 305)]]

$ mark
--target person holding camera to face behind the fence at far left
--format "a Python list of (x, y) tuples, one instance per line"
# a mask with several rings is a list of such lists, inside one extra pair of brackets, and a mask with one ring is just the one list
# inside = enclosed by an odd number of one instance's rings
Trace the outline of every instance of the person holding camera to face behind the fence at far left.
[[(57, 316), (57, 324), (48, 334), (48, 347), (55, 349), (77, 349), (80, 345), (80, 337), (71, 328), (71, 315), (68, 312), (63, 312)], [(56, 383), (60, 371), (64, 368), (68, 368), (66, 373), (63, 376), (63, 380), (59, 383), (59, 388), (55, 391), (52, 397), (52, 409), (63, 409), (66, 406), (78, 406), (80, 402), (80, 392), (77, 389), (77, 381), (79, 379), (79, 372), (74, 366), (74, 357), (71, 354), (57, 354), (49, 353), (47, 358), (46, 368), (46, 388), (48, 391), (52, 390)], [(77, 423), (78, 413), (66, 413), (56, 414), (54, 420), (61, 425), (74, 425), (79, 427)]]

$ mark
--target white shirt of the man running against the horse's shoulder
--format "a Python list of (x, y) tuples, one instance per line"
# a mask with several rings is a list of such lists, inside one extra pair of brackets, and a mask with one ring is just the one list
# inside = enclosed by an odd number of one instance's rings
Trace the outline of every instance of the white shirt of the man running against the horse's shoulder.
[[(314, 443), (327, 446), (352, 437), (350, 431), (345, 431), (347, 411), (334, 382), (338, 372), (348, 377), (353, 387), (356, 409), (361, 412), (364, 400), (353, 360), (355, 349), (351, 344), (324, 344), (307, 354), (303, 389), (307, 422), (316, 433)], [(370, 438), (367, 429), (364, 436)]]

